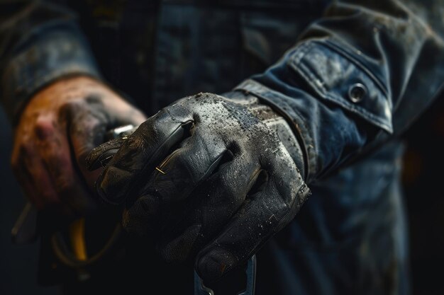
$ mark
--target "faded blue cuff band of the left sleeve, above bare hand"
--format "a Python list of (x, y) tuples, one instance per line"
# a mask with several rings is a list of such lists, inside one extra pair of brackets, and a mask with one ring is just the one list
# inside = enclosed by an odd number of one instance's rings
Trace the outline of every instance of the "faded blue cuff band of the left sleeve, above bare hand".
[(13, 126), (28, 99), (52, 81), (77, 74), (101, 79), (86, 40), (74, 28), (35, 33), (20, 47), (1, 73), (2, 102)]

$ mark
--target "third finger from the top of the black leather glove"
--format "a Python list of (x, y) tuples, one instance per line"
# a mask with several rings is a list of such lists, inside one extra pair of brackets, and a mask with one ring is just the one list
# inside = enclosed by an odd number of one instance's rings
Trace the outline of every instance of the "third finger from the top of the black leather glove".
[(235, 158), (193, 192), (187, 210), (175, 222), (162, 228), (158, 250), (167, 261), (184, 261), (196, 255), (248, 197), (260, 175), (260, 166), (245, 158)]

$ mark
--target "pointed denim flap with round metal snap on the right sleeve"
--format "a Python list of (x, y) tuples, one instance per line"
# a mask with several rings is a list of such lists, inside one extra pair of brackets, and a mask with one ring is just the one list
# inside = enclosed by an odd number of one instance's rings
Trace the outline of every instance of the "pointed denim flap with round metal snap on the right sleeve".
[(291, 52), (287, 66), (322, 100), (340, 105), (392, 134), (393, 106), (387, 86), (369, 70), (371, 63), (358, 57), (359, 52), (350, 52), (339, 42), (313, 40)]

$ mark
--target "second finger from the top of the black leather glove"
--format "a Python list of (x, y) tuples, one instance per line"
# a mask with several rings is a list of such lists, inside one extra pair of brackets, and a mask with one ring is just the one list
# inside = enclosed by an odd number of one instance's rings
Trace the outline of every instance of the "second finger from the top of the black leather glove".
[(171, 204), (187, 198), (218, 166), (232, 160), (233, 153), (225, 144), (214, 144), (216, 140), (211, 140), (211, 146), (207, 146), (206, 142), (195, 129), (184, 146), (156, 167), (140, 191), (142, 196), (126, 211), (123, 224), (127, 231), (147, 234), (154, 225), (152, 222), (159, 218), (161, 207), (165, 212), (170, 211)]

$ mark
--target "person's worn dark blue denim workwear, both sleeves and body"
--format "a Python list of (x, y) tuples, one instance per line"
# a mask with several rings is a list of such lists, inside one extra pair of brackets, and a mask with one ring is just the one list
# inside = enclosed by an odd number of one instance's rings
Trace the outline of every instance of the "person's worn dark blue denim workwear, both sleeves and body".
[[(398, 138), (444, 81), (444, 1), (65, 2), (0, 4), (13, 124), (70, 74), (104, 79), (148, 114), (201, 91), (257, 96), (300, 135), (313, 190), (258, 253), (257, 294), (409, 294)], [(168, 287), (185, 294), (187, 279)]]

